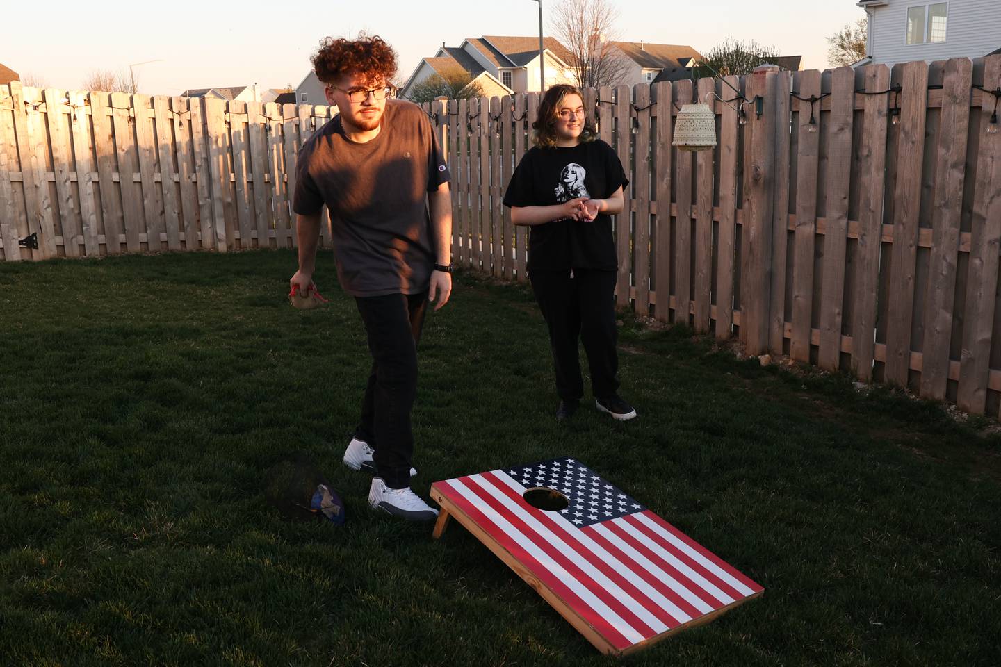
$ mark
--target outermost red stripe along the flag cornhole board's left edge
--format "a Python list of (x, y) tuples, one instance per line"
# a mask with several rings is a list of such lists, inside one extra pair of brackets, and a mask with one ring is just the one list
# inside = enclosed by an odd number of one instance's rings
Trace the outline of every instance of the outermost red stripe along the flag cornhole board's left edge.
[[(475, 505), (467, 501), (457, 490), (452, 488), (450, 485), (451, 481), (452, 480), (449, 480), (448, 482), (441, 482), (438, 489), (451, 502), (453, 502), (458, 509), (475, 521), (477, 526), (486, 531), (486, 533), (496, 540), (502, 547), (507, 549), (520, 564), (524, 565), (534, 576), (538, 577), (547, 588), (559, 595), (564, 602), (577, 611), (577, 613), (580, 614), (589, 625), (595, 628), (595, 630), (598, 631), (598, 633), (609, 643), (617, 649), (623, 649), (633, 645), (633, 643), (624, 637), (622, 633), (612, 626), (612, 624), (600, 616), (598, 612), (582, 600), (577, 593), (561, 582), (552, 572), (550, 572), (548, 568), (546, 568), (521, 544), (519, 544), (515, 536), (505, 532), (504, 529), (490, 521), (485, 514), (476, 509)], [(478, 492), (475, 490), (475, 485), (469, 482), (468, 477), (459, 478), (459, 481), (465, 484), (470, 491), (476, 493), (477, 498), (479, 497)], [(513, 519), (513, 517), (509, 516), (508, 512), (504, 512), (502, 514), (509, 521)], [(512, 521), (512, 525), (515, 525), (515, 521)]]

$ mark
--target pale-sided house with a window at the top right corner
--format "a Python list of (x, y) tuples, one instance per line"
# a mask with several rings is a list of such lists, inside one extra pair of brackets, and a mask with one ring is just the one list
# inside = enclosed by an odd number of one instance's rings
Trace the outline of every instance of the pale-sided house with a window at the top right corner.
[(870, 63), (980, 58), (1001, 47), (998, 0), (861, 0), (869, 15), (866, 57)]

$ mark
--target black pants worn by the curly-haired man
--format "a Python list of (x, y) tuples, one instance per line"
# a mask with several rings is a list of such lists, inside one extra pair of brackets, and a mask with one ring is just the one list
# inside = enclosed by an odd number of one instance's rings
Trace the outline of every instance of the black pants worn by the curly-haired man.
[(417, 341), (427, 292), (355, 297), (368, 335), (372, 369), (354, 437), (375, 449), (375, 469), (386, 486), (410, 485), (413, 432), (410, 410), (417, 393)]

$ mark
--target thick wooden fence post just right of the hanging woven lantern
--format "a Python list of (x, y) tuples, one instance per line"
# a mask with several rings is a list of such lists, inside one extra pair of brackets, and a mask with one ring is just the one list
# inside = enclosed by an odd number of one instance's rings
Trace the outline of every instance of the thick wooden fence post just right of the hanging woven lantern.
[[(743, 231), (744, 267), (741, 278), (741, 340), (748, 354), (768, 349), (769, 311), (772, 304), (772, 244), (775, 225), (775, 153), (778, 142), (779, 68), (762, 65), (749, 77), (752, 100), (750, 122), (754, 124), (747, 165), (748, 215)], [(758, 98), (761, 115), (758, 115)]]

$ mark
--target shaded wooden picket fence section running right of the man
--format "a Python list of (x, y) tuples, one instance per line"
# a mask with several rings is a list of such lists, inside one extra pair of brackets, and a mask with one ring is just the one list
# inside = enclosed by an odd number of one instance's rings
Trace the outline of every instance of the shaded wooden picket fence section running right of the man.
[[(727, 83), (584, 91), (632, 181), (620, 306), (997, 415), (1001, 56)], [(746, 124), (734, 89), (753, 101)], [(679, 152), (674, 118), (711, 93), (720, 145)], [(538, 103), (425, 105), (447, 146), (462, 266), (527, 277), (527, 231), (500, 202)]]

